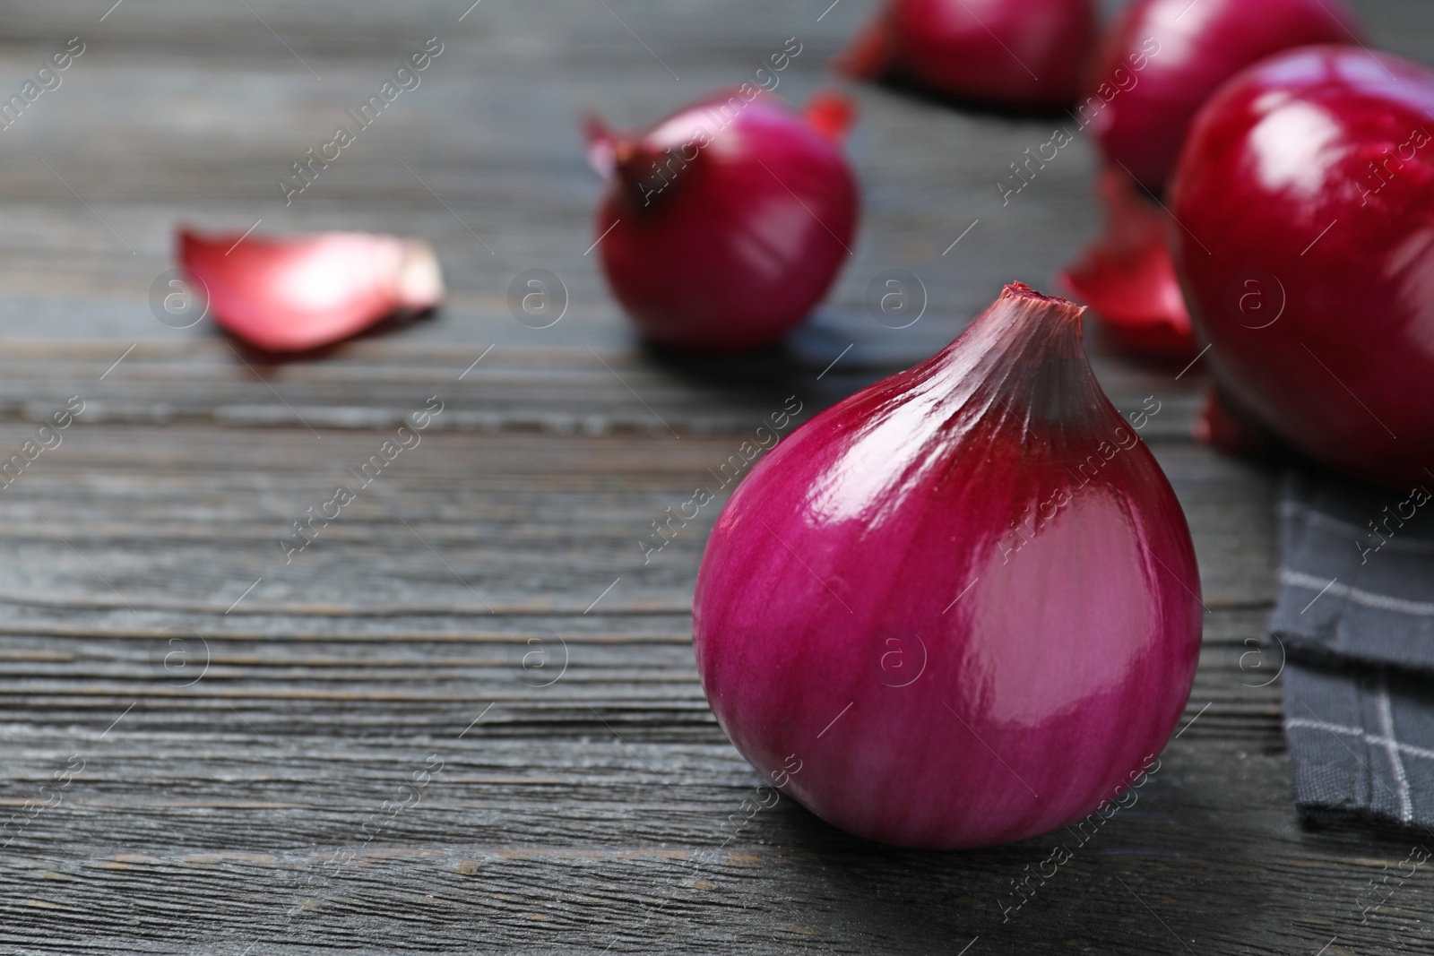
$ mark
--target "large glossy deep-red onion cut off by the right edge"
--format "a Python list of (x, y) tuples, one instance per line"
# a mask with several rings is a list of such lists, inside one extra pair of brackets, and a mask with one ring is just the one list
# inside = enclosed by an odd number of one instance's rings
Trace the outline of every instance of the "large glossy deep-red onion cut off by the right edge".
[(1306, 454), (1388, 484), (1434, 467), (1431, 116), (1428, 69), (1293, 50), (1200, 110), (1172, 186), (1222, 387)]

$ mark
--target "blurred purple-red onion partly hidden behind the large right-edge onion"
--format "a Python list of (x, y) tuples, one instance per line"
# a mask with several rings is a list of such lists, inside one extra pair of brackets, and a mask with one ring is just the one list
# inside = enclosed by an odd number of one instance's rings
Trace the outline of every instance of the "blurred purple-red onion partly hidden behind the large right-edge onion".
[[(1090, 107), (1106, 158), (1162, 193), (1190, 120), (1220, 83), (1272, 53), (1362, 36), (1344, 0), (1134, 0), (1101, 40), (1077, 109)], [(1121, 82), (1119, 69), (1133, 79)], [(1097, 106), (1101, 83), (1120, 92)]]

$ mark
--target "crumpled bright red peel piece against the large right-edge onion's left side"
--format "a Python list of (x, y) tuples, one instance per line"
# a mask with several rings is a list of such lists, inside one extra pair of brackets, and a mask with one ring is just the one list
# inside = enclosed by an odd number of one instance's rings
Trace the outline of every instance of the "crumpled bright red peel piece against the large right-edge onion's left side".
[(1120, 168), (1103, 169), (1098, 185), (1106, 231), (1057, 281), (1094, 310), (1119, 345), (1193, 357), (1195, 330), (1166, 238), (1170, 216), (1149, 202)]

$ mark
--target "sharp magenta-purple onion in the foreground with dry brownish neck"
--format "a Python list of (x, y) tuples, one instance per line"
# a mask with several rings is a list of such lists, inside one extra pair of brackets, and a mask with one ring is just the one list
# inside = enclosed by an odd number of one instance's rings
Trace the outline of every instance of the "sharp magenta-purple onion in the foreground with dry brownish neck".
[(693, 618), (707, 699), (843, 830), (929, 849), (1044, 833), (1114, 798), (1179, 720), (1195, 552), (1080, 312), (1007, 287), (944, 351), (774, 447), (716, 523)]

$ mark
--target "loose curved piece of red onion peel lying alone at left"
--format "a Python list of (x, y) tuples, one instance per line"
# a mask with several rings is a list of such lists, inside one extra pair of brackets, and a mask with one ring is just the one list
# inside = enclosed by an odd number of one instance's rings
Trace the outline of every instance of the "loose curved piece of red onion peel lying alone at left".
[(179, 232), (179, 264), (198, 279), (214, 321), (267, 351), (305, 351), (394, 312), (443, 300), (427, 242), (361, 232), (260, 236)]

